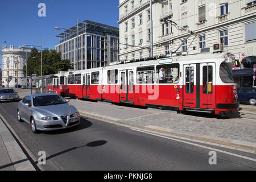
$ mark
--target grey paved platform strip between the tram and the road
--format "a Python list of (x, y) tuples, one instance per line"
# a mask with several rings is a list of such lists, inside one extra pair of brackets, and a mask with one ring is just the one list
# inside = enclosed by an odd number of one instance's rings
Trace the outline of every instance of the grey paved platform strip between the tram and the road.
[[(30, 90), (16, 90), (20, 97), (30, 94)], [(235, 114), (232, 115), (233, 118), (210, 118), (176, 114), (172, 111), (103, 104), (102, 102), (71, 100), (70, 103), (86, 117), (172, 137), (182, 137), (195, 142), (210, 142), (217, 146), (256, 154), (255, 106), (245, 105), (250, 110), (242, 110), (241, 117)]]

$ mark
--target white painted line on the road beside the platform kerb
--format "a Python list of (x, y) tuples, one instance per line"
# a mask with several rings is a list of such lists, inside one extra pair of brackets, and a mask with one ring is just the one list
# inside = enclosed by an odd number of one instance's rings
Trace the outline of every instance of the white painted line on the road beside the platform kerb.
[(164, 136), (162, 136), (162, 135), (150, 133), (150, 132), (147, 132), (147, 131), (136, 130), (136, 129), (130, 129), (130, 130), (138, 131), (138, 132), (145, 133), (145, 134), (149, 134), (149, 135), (154, 135), (154, 136), (160, 137), (160, 138), (166, 138), (166, 139), (170, 139), (170, 140), (175, 140), (176, 142), (182, 142), (182, 143), (190, 144), (190, 145), (192, 145), (192, 146), (201, 147), (201, 148), (206, 148), (206, 149), (211, 150), (211, 151), (221, 152), (221, 153), (224, 153), (224, 154), (233, 155), (233, 156), (236, 156), (236, 157), (238, 157), (238, 158), (247, 159), (247, 160), (251, 160), (251, 161), (253, 161), (253, 162), (256, 162), (256, 159), (254, 159), (254, 158), (249, 158), (249, 157), (247, 157), (247, 156), (238, 155), (238, 154), (233, 154), (233, 153), (231, 153), (231, 152), (226, 152), (226, 151), (223, 151), (223, 150), (219, 150), (219, 149), (217, 149), (217, 148), (207, 147), (207, 146), (203, 146), (203, 145), (201, 145), (201, 144), (196, 144), (196, 143), (192, 143), (192, 142), (186, 142), (186, 141), (184, 141), (184, 140), (175, 139), (175, 138), (171, 138), (171, 137), (164, 137)]

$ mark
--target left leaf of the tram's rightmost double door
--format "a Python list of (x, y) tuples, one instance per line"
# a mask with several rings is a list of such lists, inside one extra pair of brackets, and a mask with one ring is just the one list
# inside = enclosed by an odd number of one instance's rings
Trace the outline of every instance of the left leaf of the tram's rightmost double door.
[[(183, 75), (184, 75), (184, 87), (183, 87), (183, 106), (184, 107), (197, 107), (197, 71), (196, 64), (184, 65)], [(200, 84), (199, 84), (200, 85)], [(200, 93), (199, 93), (200, 96)], [(200, 107), (200, 106), (199, 106)]]

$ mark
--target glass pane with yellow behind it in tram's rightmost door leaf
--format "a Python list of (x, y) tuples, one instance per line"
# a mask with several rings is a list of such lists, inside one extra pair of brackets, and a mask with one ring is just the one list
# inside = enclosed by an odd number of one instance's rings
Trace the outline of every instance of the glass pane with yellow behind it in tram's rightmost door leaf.
[(212, 94), (213, 92), (213, 68), (212, 66), (203, 67), (203, 93)]

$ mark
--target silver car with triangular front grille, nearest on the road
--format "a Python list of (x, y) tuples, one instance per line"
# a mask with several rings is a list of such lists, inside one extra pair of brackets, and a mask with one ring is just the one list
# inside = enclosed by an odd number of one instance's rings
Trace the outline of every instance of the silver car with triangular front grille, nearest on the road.
[(76, 107), (58, 94), (31, 94), (19, 102), (18, 121), (30, 124), (34, 133), (67, 129), (80, 124)]

